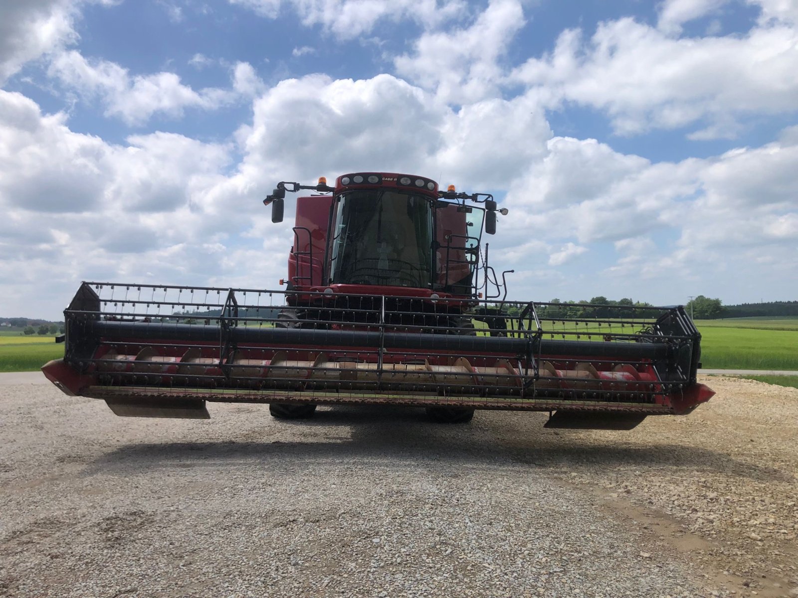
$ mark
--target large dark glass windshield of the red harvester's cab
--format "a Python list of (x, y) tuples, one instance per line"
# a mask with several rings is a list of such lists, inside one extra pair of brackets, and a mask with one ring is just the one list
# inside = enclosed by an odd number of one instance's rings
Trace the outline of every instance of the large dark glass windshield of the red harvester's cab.
[(428, 198), (369, 189), (338, 197), (330, 284), (429, 287), (433, 214)]

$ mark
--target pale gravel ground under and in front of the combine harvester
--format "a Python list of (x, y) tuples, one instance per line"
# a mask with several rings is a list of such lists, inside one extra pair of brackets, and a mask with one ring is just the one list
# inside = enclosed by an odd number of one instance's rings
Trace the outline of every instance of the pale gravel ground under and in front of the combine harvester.
[(616, 432), (123, 419), (13, 380), (0, 596), (798, 596), (798, 391), (709, 384), (693, 415)]

